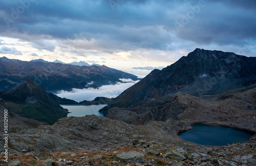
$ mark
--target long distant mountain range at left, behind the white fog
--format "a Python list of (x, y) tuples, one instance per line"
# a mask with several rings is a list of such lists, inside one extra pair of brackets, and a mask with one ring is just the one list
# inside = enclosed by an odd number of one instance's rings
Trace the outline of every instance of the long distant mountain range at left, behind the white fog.
[(120, 82), (119, 78), (138, 79), (133, 74), (104, 65), (87, 67), (0, 58), (0, 90), (13, 87), (24, 78), (30, 78), (48, 92), (72, 88), (97, 88), (116, 84), (117, 81)]

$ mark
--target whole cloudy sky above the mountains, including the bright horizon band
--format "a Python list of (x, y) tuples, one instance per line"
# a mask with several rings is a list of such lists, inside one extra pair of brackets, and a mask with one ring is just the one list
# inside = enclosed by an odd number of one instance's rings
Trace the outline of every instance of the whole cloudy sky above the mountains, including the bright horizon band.
[(255, 0), (0, 1), (0, 56), (168, 66), (196, 48), (256, 55)]

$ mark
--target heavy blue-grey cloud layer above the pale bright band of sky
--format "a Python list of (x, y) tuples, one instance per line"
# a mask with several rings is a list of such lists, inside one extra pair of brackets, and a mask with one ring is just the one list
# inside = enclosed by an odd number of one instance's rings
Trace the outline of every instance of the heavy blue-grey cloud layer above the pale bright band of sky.
[(0, 35), (30, 41), (34, 48), (51, 52), (57, 44), (47, 39), (58, 40), (63, 47), (64, 40), (73, 39), (69, 46), (75, 49), (113, 53), (175, 51), (185, 49), (187, 43), (195, 48), (242, 48), (246, 39), (256, 38), (254, 0), (126, 0), (114, 9), (105, 0), (45, 0), (25, 4), (24, 11), (20, 2), (24, 1), (0, 2)]

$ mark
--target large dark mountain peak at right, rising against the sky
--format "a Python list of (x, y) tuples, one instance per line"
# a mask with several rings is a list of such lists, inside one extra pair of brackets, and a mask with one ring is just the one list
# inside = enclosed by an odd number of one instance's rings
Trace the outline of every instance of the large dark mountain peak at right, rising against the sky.
[(133, 108), (148, 98), (178, 92), (204, 98), (255, 83), (256, 57), (196, 49), (161, 71), (153, 70), (116, 97), (109, 108)]

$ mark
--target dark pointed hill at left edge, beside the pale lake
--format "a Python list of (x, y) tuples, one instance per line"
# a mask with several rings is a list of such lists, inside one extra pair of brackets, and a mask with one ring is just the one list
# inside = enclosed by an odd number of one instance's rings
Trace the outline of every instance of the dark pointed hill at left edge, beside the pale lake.
[(20, 116), (53, 124), (67, 117), (68, 110), (49, 98), (42, 87), (26, 78), (17, 86), (0, 92), (10, 110)]

